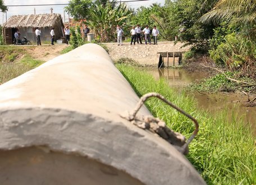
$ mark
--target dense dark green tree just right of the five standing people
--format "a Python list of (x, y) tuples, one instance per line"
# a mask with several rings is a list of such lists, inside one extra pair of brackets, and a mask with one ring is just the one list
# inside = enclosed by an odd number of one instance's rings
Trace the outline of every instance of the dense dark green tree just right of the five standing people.
[[(207, 51), (208, 39), (213, 35), (214, 25), (203, 25), (196, 22), (200, 16), (213, 6), (205, 0), (166, 1), (158, 15), (152, 16), (161, 27), (165, 39), (181, 41), (192, 45), (196, 51)], [(202, 8), (202, 4), (204, 4)]]

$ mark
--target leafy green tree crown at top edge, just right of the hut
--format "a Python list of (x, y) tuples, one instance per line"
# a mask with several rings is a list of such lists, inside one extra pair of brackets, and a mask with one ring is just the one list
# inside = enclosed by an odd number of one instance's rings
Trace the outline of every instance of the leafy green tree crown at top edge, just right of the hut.
[(70, 0), (65, 10), (70, 13), (75, 20), (88, 19), (90, 17), (91, 0)]

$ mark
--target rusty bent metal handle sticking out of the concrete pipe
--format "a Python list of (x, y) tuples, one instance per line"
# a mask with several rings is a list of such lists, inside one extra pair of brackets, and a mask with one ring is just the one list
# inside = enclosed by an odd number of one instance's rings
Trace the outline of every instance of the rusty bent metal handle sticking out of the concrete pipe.
[(138, 102), (138, 104), (136, 105), (135, 109), (133, 112), (131, 112), (131, 115), (129, 117), (129, 121), (132, 121), (135, 119), (136, 114), (138, 113), (138, 111), (140, 110), (141, 106), (144, 105), (144, 102), (147, 101), (148, 98), (150, 97), (157, 97), (159, 99), (161, 99), (163, 102), (167, 103), (168, 105), (170, 105), (172, 108), (175, 108), (177, 111), (179, 111), (180, 113), (182, 113), (183, 115), (185, 115), (186, 117), (190, 118), (190, 120), (192, 120), (194, 122), (195, 125), (195, 130), (193, 132), (193, 134), (189, 137), (189, 139), (186, 141), (186, 143), (182, 146), (182, 148), (185, 150), (188, 145), (191, 143), (191, 141), (194, 139), (194, 137), (196, 136), (196, 134), (198, 133), (199, 130), (199, 124), (198, 121), (196, 121), (196, 119), (194, 117), (192, 117), (191, 115), (189, 115), (188, 113), (186, 113), (184, 110), (182, 110), (181, 108), (177, 107), (176, 105), (174, 105), (172, 102), (168, 101), (166, 98), (164, 98), (161, 94), (159, 93), (147, 93), (144, 94), (141, 98), (140, 101)]

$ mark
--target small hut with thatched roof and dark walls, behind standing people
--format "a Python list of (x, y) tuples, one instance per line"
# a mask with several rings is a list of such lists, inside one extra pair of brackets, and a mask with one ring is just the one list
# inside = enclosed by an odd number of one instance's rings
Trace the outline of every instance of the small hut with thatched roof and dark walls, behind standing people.
[(11, 16), (3, 25), (4, 39), (6, 43), (11, 44), (16, 29), (20, 30), (21, 36), (35, 41), (35, 27), (42, 31), (41, 40), (50, 40), (51, 27), (54, 27), (56, 39), (63, 37), (63, 22), (61, 15), (58, 13), (45, 13), (39, 15), (16, 15)]

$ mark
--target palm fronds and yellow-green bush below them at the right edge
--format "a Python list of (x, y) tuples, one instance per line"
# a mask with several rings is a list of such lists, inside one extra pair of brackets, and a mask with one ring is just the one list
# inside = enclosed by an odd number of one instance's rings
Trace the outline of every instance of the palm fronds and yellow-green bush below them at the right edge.
[(211, 58), (218, 65), (240, 70), (240, 75), (256, 78), (256, 2), (222, 0), (199, 21), (220, 23), (210, 40)]

